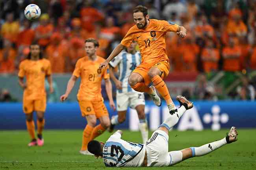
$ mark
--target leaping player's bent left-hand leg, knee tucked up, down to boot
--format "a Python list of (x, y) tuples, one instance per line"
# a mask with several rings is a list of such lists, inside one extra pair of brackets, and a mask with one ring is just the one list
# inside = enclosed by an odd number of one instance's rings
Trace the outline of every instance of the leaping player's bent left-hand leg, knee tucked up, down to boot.
[(157, 106), (161, 106), (161, 99), (157, 95), (154, 87), (148, 87), (151, 82), (150, 77), (148, 76), (148, 69), (145, 69), (144, 67), (136, 68), (130, 75), (128, 82), (132, 89), (137, 92), (148, 93), (154, 103)]

